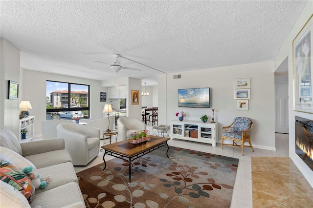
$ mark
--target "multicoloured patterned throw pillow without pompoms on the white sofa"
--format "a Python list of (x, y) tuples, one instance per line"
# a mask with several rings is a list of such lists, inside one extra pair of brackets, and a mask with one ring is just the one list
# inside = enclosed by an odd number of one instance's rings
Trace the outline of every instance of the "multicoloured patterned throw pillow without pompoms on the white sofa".
[(35, 187), (30, 178), (3, 159), (0, 159), (0, 180), (19, 190), (29, 203), (33, 201)]

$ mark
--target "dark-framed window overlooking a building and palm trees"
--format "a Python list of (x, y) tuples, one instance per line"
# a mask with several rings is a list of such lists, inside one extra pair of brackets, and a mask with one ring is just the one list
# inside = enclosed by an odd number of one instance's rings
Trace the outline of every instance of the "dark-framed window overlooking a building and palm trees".
[(89, 118), (89, 85), (46, 81), (46, 120)]

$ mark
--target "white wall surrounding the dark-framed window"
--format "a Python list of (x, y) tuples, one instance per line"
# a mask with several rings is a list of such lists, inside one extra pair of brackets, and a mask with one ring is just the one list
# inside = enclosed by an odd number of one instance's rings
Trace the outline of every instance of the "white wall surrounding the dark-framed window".
[(30, 115), (35, 116), (34, 136), (38, 136), (41, 133), (41, 122), (45, 121), (46, 108), (46, 81), (68, 82), (68, 83), (80, 83), (90, 85), (90, 119), (84, 120), (88, 122), (90, 120), (102, 118), (102, 110), (104, 104), (107, 102), (100, 102), (100, 92), (108, 92), (107, 87), (101, 87), (100, 81), (89, 80), (77, 77), (70, 77), (58, 74), (51, 74), (27, 69), (21, 69), (23, 72), (23, 86), (20, 93), (23, 98), (30, 102), (33, 109), (29, 109)]

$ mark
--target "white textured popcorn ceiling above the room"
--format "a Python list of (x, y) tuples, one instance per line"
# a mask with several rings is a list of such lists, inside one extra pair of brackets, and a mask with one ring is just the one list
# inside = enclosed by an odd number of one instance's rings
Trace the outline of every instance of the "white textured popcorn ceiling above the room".
[[(0, 32), (25, 69), (156, 85), (162, 72), (272, 61), (306, 3), (1, 0)], [(138, 63), (127, 66), (141, 71), (90, 69), (114, 53), (158, 71)]]

